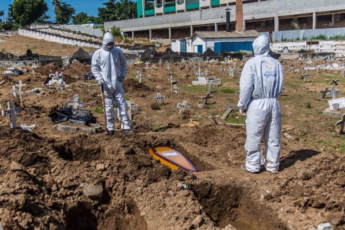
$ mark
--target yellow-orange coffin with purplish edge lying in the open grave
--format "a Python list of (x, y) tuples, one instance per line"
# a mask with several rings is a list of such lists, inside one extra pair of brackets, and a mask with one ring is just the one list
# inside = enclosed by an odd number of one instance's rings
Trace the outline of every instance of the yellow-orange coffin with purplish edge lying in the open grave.
[(169, 166), (172, 170), (180, 167), (185, 171), (200, 171), (193, 162), (177, 149), (168, 146), (150, 147), (148, 153), (155, 159), (159, 159), (160, 163)]

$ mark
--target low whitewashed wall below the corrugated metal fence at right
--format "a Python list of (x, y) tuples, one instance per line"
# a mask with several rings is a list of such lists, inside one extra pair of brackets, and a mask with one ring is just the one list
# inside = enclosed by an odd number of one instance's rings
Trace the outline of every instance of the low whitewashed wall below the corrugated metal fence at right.
[[(315, 52), (333, 52), (336, 56), (345, 55), (345, 40), (320, 40), (318, 44), (309, 45), (308, 41), (285, 41), (270, 43), (273, 52), (283, 52), (286, 46), (289, 52), (301, 49), (313, 49)], [(315, 42), (315, 40), (313, 40)]]

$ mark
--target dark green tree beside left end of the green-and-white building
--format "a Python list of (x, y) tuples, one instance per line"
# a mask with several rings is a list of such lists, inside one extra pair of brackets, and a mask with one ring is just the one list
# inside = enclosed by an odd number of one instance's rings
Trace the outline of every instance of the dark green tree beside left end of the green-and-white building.
[(99, 20), (115, 21), (132, 18), (132, 14), (136, 15), (136, 2), (131, 0), (108, 0), (103, 2), (104, 8), (98, 8)]

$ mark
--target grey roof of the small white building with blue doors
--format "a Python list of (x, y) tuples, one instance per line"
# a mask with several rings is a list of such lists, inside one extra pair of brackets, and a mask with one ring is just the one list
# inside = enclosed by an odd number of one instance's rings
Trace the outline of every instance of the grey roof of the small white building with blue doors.
[(256, 30), (246, 30), (243, 32), (195, 31), (190, 38), (196, 35), (199, 35), (202, 38), (238, 38), (238, 37), (258, 37), (261, 34), (257, 32)]

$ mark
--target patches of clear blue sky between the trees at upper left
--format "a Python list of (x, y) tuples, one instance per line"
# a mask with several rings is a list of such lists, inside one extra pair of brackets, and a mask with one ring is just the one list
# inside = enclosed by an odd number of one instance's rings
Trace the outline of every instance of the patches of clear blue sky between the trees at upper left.
[[(48, 5), (48, 11), (46, 12), (50, 18), (49, 20), (55, 20), (55, 14), (51, 6), (52, 0), (45, 0)], [(89, 16), (97, 16), (98, 8), (103, 7), (101, 0), (62, 0), (72, 5), (75, 8), (75, 13), (86, 12)], [(7, 15), (8, 5), (11, 4), (13, 0), (0, 0), (0, 10), (5, 11)]]

